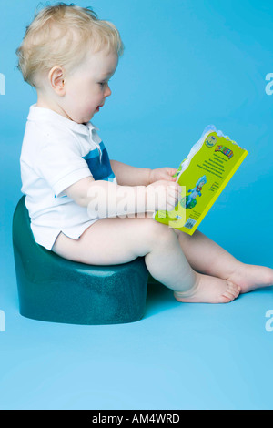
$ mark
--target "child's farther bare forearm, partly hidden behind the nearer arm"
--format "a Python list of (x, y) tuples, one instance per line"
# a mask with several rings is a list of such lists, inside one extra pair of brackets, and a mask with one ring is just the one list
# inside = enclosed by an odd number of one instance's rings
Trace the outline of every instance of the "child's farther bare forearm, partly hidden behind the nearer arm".
[(150, 184), (151, 169), (136, 168), (118, 160), (110, 160), (111, 168), (121, 186), (148, 186)]

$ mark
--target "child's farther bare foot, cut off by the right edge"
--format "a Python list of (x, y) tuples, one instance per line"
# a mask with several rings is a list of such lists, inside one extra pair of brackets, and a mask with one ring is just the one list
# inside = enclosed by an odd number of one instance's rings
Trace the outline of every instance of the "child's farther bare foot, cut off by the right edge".
[(227, 280), (238, 284), (243, 294), (273, 285), (273, 269), (240, 262)]

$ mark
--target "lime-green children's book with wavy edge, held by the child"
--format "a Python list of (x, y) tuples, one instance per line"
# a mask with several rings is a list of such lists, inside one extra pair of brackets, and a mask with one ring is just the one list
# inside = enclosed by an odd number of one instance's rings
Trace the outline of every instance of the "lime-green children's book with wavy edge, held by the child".
[(208, 125), (174, 175), (182, 188), (177, 206), (155, 212), (154, 219), (193, 235), (247, 156), (236, 141)]

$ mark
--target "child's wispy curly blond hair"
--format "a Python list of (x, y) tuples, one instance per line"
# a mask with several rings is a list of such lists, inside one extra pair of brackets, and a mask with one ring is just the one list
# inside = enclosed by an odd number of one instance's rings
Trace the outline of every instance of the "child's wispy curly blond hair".
[(60, 2), (44, 7), (26, 27), (22, 45), (16, 49), (17, 67), (25, 82), (36, 87), (41, 72), (63, 66), (68, 74), (88, 49), (122, 56), (124, 45), (116, 26), (98, 19), (91, 8)]

